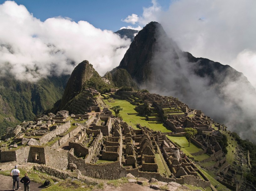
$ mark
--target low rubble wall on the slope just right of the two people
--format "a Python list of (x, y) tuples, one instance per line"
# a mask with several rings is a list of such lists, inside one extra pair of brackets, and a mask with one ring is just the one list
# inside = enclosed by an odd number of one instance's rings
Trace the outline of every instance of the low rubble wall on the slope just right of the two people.
[(52, 167), (49, 167), (49, 166), (45, 166), (45, 165), (35, 165), (34, 169), (39, 170), (42, 173), (47, 173), (51, 176), (55, 176), (59, 179), (66, 179), (68, 177), (69, 178), (76, 178), (76, 176), (71, 176), (70, 174), (68, 174), (66, 172), (63, 172), (63, 171), (60, 171), (58, 169), (55, 169), (55, 168), (52, 168)]

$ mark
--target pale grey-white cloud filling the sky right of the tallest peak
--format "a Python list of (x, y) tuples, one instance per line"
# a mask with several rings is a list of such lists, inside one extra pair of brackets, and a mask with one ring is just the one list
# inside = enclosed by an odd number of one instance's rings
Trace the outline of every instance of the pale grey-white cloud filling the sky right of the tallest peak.
[(154, 0), (136, 24), (157, 21), (183, 51), (228, 64), (256, 88), (256, 1), (177, 0), (164, 11)]

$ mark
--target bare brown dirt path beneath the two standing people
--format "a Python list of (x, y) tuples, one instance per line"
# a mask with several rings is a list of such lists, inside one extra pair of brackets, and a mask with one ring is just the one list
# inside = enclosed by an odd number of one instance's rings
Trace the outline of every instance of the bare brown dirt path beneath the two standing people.
[[(20, 178), (21, 179), (21, 178)], [(30, 183), (30, 190), (31, 191), (39, 191), (42, 188), (42, 184), (37, 184), (34, 182)], [(19, 186), (21, 189), (19, 190), (24, 190), (24, 185), (22, 183), (19, 183)], [(17, 187), (17, 183), (15, 184), (15, 188)], [(0, 174), (0, 191), (13, 191), (13, 178), (11, 176), (4, 176)]]

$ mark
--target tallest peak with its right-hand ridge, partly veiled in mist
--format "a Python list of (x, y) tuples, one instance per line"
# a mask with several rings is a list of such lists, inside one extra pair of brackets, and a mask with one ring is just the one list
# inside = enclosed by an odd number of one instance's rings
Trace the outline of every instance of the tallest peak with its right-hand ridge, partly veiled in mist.
[(247, 78), (228, 65), (181, 51), (159, 23), (138, 32), (117, 68), (126, 69), (141, 89), (175, 96), (254, 140), (256, 93)]

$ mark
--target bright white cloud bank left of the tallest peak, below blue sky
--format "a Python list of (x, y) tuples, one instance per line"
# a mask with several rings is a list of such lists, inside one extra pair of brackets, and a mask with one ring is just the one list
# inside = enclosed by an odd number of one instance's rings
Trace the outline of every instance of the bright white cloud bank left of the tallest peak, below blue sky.
[(0, 5), (0, 23), (0, 76), (17, 80), (70, 74), (83, 60), (104, 75), (119, 65), (131, 43), (86, 21), (56, 17), (41, 22), (12, 1)]

